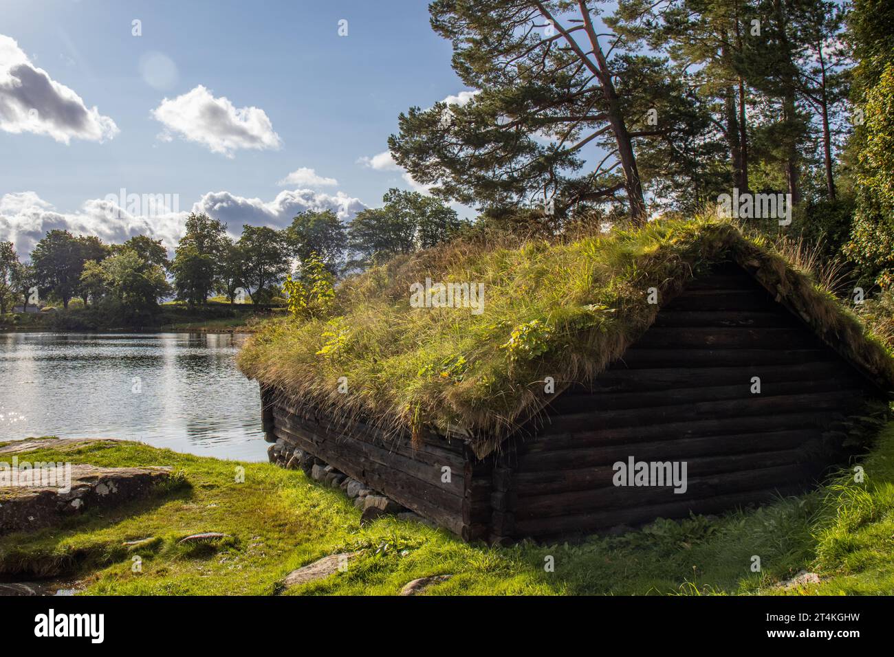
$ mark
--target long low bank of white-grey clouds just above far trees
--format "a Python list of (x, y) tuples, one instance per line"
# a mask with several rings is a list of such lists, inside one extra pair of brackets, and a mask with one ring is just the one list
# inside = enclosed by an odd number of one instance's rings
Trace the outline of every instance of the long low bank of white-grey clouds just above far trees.
[[(114, 192), (110, 196), (117, 197)], [(122, 242), (134, 235), (147, 234), (162, 240), (169, 249), (183, 236), (188, 212), (162, 208), (151, 215), (129, 212), (126, 203), (93, 198), (77, 212), (59, 212), (34, 191), (4, 194), (0, 197), (0, 240), (12, 241), (21, 258), (30, 254), (47, 231), (66, 230), (74, 234), (97, 235), (107, 242)], [(304, 210), (333, 210), (342, 221), (353, 218), (366, 206), (358, 198), (337, 192), (334, 195), (314, 190), (283, 190), (272, 201), (244, 198), (227, 191), (209, 192), (192, 206), (196, 213), (206, 212), (227, 224), (233, 236), (242, 232), (242, 224), (283, 228), (293, 216)]]

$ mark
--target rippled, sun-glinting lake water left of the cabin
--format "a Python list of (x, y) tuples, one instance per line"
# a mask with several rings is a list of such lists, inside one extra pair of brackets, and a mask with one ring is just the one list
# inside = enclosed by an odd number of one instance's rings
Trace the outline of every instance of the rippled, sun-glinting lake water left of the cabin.
[(124, 438), (200, 456), (266, 460), (245, 336), (0, 333), (0, 440)]

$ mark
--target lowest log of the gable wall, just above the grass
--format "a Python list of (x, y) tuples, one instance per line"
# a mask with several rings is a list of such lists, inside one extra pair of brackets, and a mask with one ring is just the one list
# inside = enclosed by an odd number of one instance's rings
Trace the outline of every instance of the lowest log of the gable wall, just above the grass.
[(718, 513), (738, 506), (770, 501), (779, 495), (800, 493), (805, 488), (806, 484), (797, 482), (772, 486), (764, 490), (716, 495), (704, 500), (670, 501), (621, 510), (516, 520), (513, 535), (533, 537), (583, 535), (611, 526), (638, 525), (654, 518), (686, 518), (690, 511), (696, 514)]

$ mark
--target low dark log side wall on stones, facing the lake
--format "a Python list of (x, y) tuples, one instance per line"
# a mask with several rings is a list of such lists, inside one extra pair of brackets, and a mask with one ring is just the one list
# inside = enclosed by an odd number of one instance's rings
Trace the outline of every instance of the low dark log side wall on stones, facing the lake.
[[(473, 462), (462, 442), (425, 435), (413, 445), (360, 422), (334, 422), (271, 390), (262, 400), (267, 440), (291, 442), (467, 541), (487, 538), (491, 468), (486, 460)], [(450, 481), (443, 480), (444, 467)]]

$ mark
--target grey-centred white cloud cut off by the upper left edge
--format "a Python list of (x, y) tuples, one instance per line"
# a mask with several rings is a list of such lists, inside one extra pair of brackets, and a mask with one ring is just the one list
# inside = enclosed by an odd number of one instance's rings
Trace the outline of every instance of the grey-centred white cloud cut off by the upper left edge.
[(15, 39), (0, 34), (0, 130), (71, 139), (104, 141), (118, 126), (96, 106), (88, 108), (71, 88), (31, 63)]

